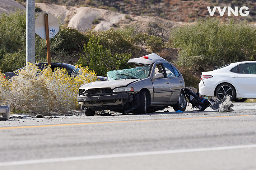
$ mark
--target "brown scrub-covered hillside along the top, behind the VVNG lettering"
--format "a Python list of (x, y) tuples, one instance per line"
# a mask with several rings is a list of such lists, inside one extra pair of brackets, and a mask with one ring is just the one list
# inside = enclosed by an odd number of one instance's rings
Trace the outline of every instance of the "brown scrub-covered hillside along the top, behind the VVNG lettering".
[[(24, 4), (25, 0), (17, 0)], [(197, 20), (199, 17), (210, 17), (207, 6), (231, 6), (233, 9), (238, 6), (247, 6), (250, 15), (242, 17), (238, 14), (231, 18), (237, 20), (255, 21), (256, 1), (255, 0), (35, 0), (37, 3), (57, 4), (64, 6), (87, 6), (99, 9), (108, 9), (121, 14), (136, 16), (157, 16), (172, 21), (187, 22)], [(217, 10), (218, 11), (218, 10)], [(216, 11), (215, 16), (220, 17)], [(239, 12), (238, 12), (239, 13)], [(223, 21), (228, 20), (227, 12), (221, 17)]]

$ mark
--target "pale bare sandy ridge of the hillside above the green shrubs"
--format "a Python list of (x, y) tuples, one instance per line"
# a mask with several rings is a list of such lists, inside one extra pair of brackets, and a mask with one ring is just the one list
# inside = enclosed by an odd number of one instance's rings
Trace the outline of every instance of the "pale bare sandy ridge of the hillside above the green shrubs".
[[(106, 30), (111, 27), (123, 27), (131, 24), (137, 24), (143, 27), (143, 25), (148, 25), (148, 23), (152, 21), (165, 23), (169, 25), (169, 27), (182, 24), (181, 22), (156, 17), (125, 15), (110, 10), (84, 6), (71, 7), (45, 3), (36, 3), (35, 5), (40, 7), (43, 11), (51, 13), (56, 17), (61, 17), (62, 21), (67, 26), (76, 28), (82, 32), (94, 27), (96, 30)], [(99, 23), (94, 23), (94, 20), (98, 20)]]

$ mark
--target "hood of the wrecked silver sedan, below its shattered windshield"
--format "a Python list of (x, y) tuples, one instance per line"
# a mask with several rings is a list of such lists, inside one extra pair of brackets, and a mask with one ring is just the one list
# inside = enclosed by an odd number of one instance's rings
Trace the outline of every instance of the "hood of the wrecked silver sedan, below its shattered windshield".
[(111, 88), (125, 87), (128, 84), (138, 81), (140, 79), (121, 79), (121, 80), (108, 80), (108, 81), (94, 81), (81, 86), (79, 89), (97, 89), (97, 88)]

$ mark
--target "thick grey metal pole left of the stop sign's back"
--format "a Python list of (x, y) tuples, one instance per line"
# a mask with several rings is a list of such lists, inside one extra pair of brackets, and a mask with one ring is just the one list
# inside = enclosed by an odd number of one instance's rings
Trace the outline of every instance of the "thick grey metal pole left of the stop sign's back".
[(35, 0), (27, 0), (26, 65), (35, 62)]

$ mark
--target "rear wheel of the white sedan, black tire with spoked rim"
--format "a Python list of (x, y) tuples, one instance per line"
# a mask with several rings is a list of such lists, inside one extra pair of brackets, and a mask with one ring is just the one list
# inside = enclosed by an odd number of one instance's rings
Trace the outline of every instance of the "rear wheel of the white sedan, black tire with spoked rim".
[(233, 101), (236, 98), (236, 90), (231, 84), (223, 83), (217, 86), (215, 95), (219, 100), (222, 100), (226, 95), (229, 95), (230, 100)]

